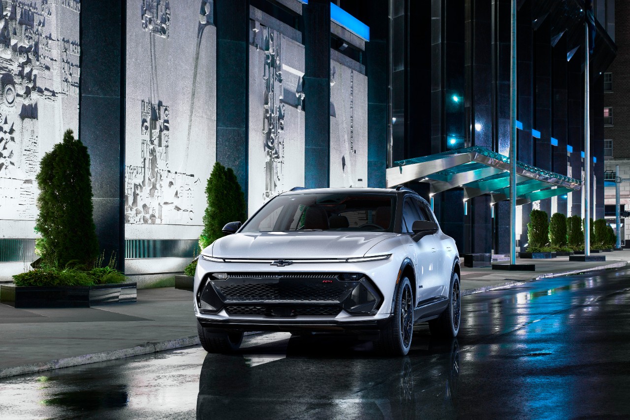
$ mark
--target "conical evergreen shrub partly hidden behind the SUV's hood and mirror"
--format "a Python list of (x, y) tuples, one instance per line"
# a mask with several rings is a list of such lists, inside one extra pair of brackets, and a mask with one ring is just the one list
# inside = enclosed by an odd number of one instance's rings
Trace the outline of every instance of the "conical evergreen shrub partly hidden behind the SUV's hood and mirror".
[(244, 222), (247, 218), (245, 195), (232, 168), (216, 162), (205, 188), (208, 206), (203, 215), (203, 231), (199, 245), (203, 249), (224, 236), (223, 226), (231, 221)]

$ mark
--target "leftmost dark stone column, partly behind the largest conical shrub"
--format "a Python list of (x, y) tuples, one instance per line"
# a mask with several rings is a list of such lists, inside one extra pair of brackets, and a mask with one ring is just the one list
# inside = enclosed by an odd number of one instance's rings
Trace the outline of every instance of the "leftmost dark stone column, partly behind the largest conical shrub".
[[(84, 2), (80, 14), (79, 133), (91, 160), (96, 235), (125, 269), (126, 2)], [(100, 29), (97, 29), (100, 28)]]

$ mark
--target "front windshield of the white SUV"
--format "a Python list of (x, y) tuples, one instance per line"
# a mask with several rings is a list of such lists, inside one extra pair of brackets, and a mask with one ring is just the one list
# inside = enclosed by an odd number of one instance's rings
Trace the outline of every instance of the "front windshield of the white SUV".
[(395, 197), (390, 194), (318, 192), (278, 195), (241, 232), (394, 230)]

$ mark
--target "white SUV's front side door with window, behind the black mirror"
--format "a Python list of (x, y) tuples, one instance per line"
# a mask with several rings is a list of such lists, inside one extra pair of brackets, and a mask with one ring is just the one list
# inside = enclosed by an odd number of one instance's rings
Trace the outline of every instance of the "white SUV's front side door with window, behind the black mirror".
[(426, 235), (422, 238), (414, 236), (411, 226), (416, 220), (427, 219), (426, 212), (422, 212), (416, 204), (416, 200), (407, 197), (403, 204), (403, 233), (410, 235), (413, 245), (410, 245), (415, 256), (416, 266), (416, 306), (421, 301), (430, 300), (435, 296), (438, 289), (438, 278), (436, 276), (437, 260), (434, 235)]

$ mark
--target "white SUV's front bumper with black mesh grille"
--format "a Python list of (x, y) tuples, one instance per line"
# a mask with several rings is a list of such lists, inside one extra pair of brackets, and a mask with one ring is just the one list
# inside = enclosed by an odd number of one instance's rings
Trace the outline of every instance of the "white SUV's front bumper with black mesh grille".
[[(285, 269), (200, 259), (195, 275), (195, 315), (203, 327), (217, 330), (379, 330), (391, 317), (399, 266), (400, 262), (390, 259), (294, 264)], [(212, 276), (216, 273), (234, 277), (219, 280)], [(349, 273), (360, 277), (340, 279)], [(275, 278), (278, 274), (281, 276)], [(306, 277), (292, 278), (291, 274)], [(366, 295), (374, 299), (366, 300)]]

